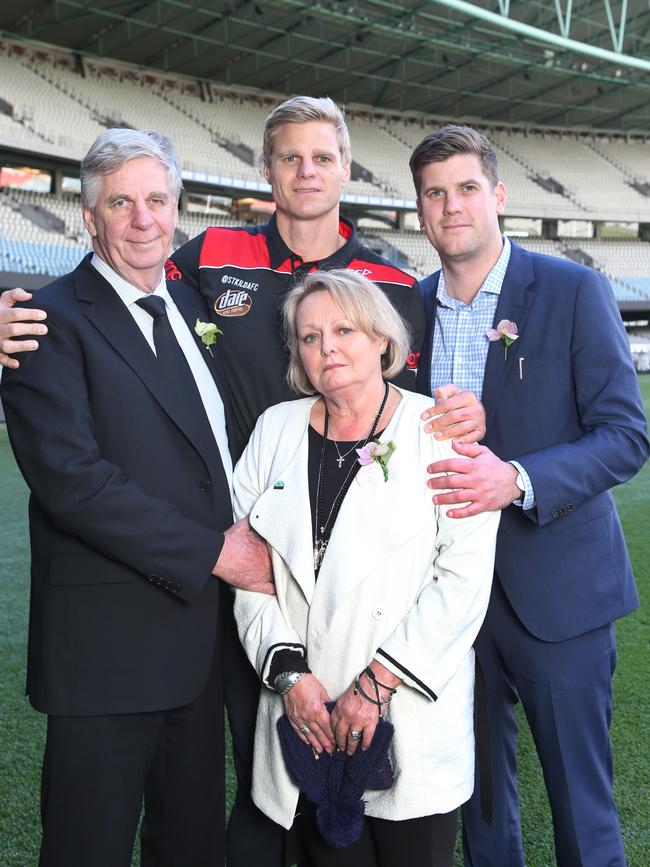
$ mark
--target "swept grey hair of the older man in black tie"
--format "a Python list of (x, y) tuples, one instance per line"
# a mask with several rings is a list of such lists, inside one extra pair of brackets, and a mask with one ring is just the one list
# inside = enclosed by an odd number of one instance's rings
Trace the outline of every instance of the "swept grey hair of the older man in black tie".
[(130, 160), (152, 157), (167, 171), (169, 189), (175, 199), (181, 194), (183, 182), (174, 143), (155, 130), (107, 129), (90, 146), (81, 161), (81, 204), (94, 208), (104, 175), (116, 172)]

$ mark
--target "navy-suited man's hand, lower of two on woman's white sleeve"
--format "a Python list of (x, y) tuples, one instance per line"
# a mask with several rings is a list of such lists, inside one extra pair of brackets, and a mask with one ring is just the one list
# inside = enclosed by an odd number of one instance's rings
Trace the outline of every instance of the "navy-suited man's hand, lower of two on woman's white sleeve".
[(495, 512), (521, 497), (522, 492), (515, 483), (517, 470), (512, 464), (502, 461), (485, 446), (454, 440), (452, 447), (459, 455), (471, 460), (446, 458), (427, 467), (427, 472), (435, 475), (427, 482), (431, 490), (453, 489), (435, 494), (433, 502), (436, 506), (466, 504), (459, 509), (449, 509), (449, 518)]

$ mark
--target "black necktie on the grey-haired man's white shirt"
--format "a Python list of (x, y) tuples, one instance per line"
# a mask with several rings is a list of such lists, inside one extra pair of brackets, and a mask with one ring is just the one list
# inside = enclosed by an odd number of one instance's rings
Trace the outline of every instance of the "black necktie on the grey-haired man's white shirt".
[(146, 310), (153, 319), (153, 342), (165, 382), (170, 389), (174, 390), (178, 402), (185, 411), (194, 417), (199, 413), (201, 422), (205, 422), (208, 429), (212, 430), (196, 380), (192, 376), (187, 359), (167, 318), (167, 305), (164, 299), (158, 295), (147, 295), (146, 298), (140, 298), (135, 303)]

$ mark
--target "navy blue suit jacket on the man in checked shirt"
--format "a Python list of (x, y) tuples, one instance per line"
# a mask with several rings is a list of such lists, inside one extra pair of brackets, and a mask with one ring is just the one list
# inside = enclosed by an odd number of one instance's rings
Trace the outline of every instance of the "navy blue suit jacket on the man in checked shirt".
[[(421, 284), (427, 334), (418, 388), (430, 392), (439, 272)], [(512, 245), (495, 324), (519, 339), (488, 350), (484, 444), (518, 460), (536, 507), (504, 509), (496, 571), (527, 629), (546, 641), (581, 635), (638, 605), (609, 491), (648, 457), (629, 342), (602, 274)], [(521, 376), (520, 376), (520, 358)]]

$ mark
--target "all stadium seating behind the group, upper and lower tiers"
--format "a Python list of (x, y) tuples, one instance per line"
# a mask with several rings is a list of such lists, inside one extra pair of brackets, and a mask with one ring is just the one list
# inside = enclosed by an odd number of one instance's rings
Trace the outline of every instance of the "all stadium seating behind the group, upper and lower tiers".
[[(48, 53), (0, 40), (0, 98), (0, 145), (5, 149), (79, 160), (107, 126), (162, 129), (178, 143), (186, 177), (209, 175), (205, 183), (217, 178), (222, 191), (268, 192), (260, 171), (261, 133), (279, 96), (174, 79), (107, 61), (86, 58), (79, 64), (62, 51)], [(408, 158), (439, 121), (354, 107), (348, 111), (348, 124), (354, 161), (367, 174), (350, 181), (344, 202), (375, 207), (381, 202), (388, 212), (412, 208)], [(500, 159), (509, 215), (650, 223), (650, 196), (645, 195), (650, 193), (650, 143), (559, 131), (486, 131)], [(177, 242), (206, 225), (235, 225), (238, 221), (222, 202), (204, 213), (190, 201), (179, 218)], [(379, 227), (362, 231), (373, 248), (418, 277), (439, 267), (421, 232)], [(517, 240), (532, 250), (593, 264), (607, 274), (621, 302), (650, 300), (650, 243)], [(54, 276), (70, 270), (87, 245), (77, 196), (0, 190), (3, 270)]]

